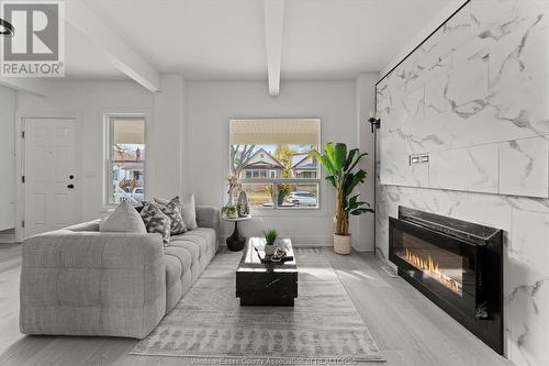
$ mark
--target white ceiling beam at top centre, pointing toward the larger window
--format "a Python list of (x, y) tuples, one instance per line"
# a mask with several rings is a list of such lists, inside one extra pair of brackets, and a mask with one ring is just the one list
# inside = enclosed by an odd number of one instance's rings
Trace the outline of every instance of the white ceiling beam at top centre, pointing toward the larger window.
[(269, 95), (280, 95), (280, 64), (284, 26), (284, 0), (264, 0), (265, 44), (267, 47), (267, 76)]

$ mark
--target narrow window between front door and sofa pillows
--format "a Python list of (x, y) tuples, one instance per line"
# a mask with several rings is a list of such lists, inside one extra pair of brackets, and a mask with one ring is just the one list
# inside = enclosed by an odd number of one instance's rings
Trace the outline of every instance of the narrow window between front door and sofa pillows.
[(107, 115), (107, 203), (145, 199), (145, 118)]

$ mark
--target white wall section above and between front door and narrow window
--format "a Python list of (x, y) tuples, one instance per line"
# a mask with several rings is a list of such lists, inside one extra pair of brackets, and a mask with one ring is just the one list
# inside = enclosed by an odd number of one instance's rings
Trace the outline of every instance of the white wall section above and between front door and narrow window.
[(103, 214), (103, 115), (145, 113), (148, 130), (154, 117), (153, 104), (153, 95), (133, 81), (54, 80), (46, 97), (20, 92), (19, 111), (23, 115), (60, 114), (80, 119), (81, 136), (78, 148), (82, 157), (81, 220), (97, 219)]

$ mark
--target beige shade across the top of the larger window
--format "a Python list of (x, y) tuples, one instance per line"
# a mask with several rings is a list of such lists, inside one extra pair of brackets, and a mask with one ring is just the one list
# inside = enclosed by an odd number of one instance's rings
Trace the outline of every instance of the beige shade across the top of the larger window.
[(229, 143), (232, 145), (317, 145), (318, 142), (320, 120), (317, 119), (229, 121)]

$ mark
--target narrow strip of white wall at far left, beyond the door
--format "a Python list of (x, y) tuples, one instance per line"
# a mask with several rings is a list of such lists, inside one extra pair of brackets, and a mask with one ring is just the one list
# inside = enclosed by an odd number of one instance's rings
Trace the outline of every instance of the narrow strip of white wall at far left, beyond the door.
[(0, 86), (0, 230), (14, 228), (16, 93)]

